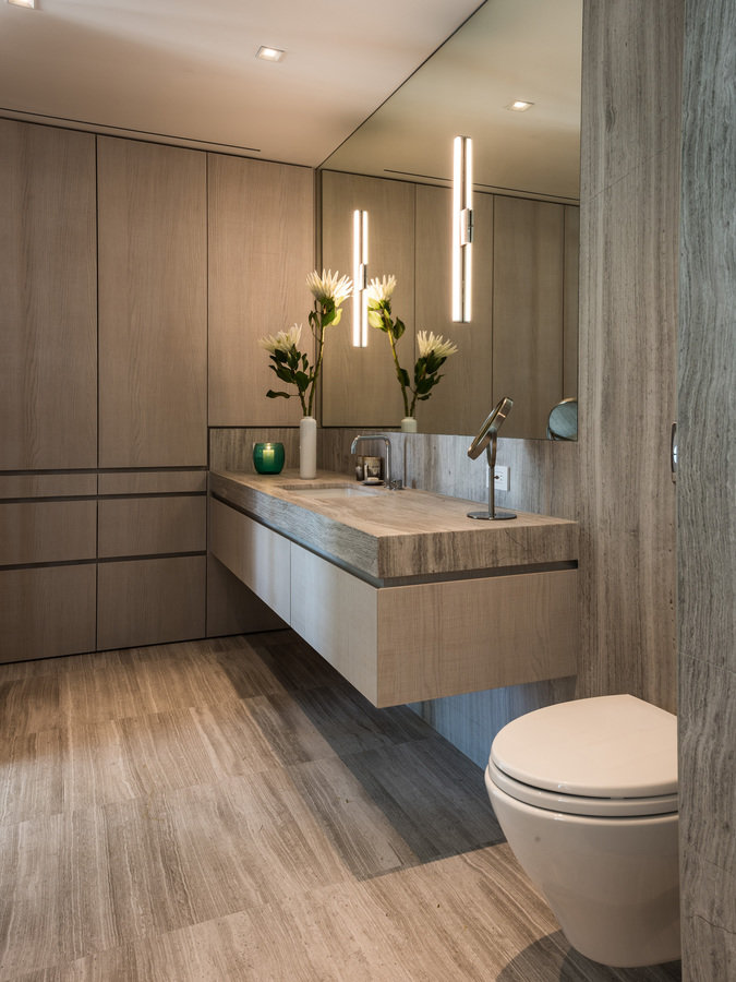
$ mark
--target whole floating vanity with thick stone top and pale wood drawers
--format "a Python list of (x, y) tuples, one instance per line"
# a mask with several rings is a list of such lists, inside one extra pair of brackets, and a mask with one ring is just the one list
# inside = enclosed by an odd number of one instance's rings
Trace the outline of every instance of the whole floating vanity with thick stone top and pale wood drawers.
[(210, 550), (375, 706), (575, 674), (574, 522), (330, 477), (210, 474)]

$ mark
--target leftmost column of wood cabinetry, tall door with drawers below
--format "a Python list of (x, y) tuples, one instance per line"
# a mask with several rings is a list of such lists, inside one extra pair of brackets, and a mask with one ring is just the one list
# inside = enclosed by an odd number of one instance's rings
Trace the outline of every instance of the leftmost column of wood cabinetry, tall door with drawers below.
[(95, 647), (95, 254), (94, 135), (0, 119), (3, 661)]

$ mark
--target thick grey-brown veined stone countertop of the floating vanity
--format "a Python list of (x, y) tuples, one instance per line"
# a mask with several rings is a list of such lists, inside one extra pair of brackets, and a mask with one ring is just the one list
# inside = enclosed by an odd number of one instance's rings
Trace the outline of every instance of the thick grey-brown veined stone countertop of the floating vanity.
[(343, 474), (318, 471), (314, 480), (300, 480), (295, 470), (210, 471), (209, 490), (289, 539), (382, 582), (488, 575), (578, 558), (575, 522), (524, 512), (507, 522), (478, 520), (467, 513), (487, 502), (369, 488)]

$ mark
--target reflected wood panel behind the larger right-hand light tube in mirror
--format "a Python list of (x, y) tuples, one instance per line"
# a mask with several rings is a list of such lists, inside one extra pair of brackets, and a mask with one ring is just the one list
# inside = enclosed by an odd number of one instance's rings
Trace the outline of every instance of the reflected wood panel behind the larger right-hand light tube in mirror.
[[(433, 331), (458, 346), (442, 368), (432, 397), (417, 404), (425, 433), (474, 433), (491, 411), (493, 378), (493, 202), (473, 197), (473, 296), (470, 324), (454, 324), (450, 311), (451, 192), (417, 185), (417, 330)], [(411, 374), (411, 372), (410, 372)]]

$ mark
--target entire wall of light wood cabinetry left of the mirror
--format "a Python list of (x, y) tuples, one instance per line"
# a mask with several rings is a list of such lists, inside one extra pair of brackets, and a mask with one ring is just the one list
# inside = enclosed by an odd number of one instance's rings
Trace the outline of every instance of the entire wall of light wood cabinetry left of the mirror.
[(208, 220), (214, 421), (272, 426), (312, 171), (0, 119), (0, 661), (279, 624), (206, 555)]

